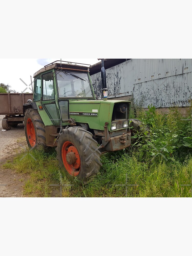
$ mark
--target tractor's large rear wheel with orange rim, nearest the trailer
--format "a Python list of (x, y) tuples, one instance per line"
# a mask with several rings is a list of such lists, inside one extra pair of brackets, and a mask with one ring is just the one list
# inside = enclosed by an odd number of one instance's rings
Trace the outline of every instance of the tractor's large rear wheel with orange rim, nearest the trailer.
[(24, 116), (25, 136), (29, 148), (49, 151), (51, 147), (46, 146), (45, 125), (39, 112), (35, 109), (26, 109)]

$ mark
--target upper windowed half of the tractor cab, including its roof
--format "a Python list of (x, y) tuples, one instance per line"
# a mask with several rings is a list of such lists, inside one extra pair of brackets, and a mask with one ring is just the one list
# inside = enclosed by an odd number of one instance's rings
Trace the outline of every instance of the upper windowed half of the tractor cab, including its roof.
[(57, 99), (95, 99), (87, 66), (72, 63), (46, 65), (34, 74), (34, 101), (53, 100), (54, 95)]

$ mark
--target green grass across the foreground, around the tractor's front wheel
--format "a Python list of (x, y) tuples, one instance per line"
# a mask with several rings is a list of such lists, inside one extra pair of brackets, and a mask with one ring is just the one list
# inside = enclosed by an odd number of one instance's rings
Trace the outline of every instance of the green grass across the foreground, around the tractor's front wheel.
[[(53, 187), (50, 184), (60, 184), (60, 168), (56, 152), (39, 151), (26, 152), (18, 155), (13, 162), (4, 168), (29, 174), (30, 178), (24, 186), (24, 196), (50, 197)], [(167, 162), (163, 158), (153, 162), (140, 162), (136, 151), (126, 150), (121, 156), (118, 153), (102, 155), (103, 167), (93, 182), (86, 186), (70, 183), (62, 174), (63, 197), (190, 197), (191, 187), (181, 186), (191, 184), (192, 157), (183, 154), (181, 160)], [(176, 155), (175, 155), (176, 156)], [(176, 156), (177, 157), (177, 156)], [(127, 180), (127, 183), (126, 183)], [(124, 186), (122, 186), (124, 185)], [(135, 185), (135, 186), (129, 186)], [(58, 187), (58, 189), (60, 189)], [(58, 195), (60, 196), (59, 192)]]

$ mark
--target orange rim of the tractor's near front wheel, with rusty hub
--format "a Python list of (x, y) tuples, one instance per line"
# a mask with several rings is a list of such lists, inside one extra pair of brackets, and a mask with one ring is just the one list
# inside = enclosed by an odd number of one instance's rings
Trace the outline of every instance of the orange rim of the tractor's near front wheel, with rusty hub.
[(81, 168), (81, 160), (77, 148), (70, 141), (63, 143), (61, 149), (63, 165), (71, 176), (77, 176)]

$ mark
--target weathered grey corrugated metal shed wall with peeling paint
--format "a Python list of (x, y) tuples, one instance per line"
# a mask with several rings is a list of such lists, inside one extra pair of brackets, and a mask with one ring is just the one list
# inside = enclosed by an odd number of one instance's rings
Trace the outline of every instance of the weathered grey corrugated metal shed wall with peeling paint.
[[(101, 98), (101, 73), (91, 76)], [(192, 97), (192, 59), (131, 59), (106, 70), (109, 98), (133, 95), (147, 108), (188, 106)]]

